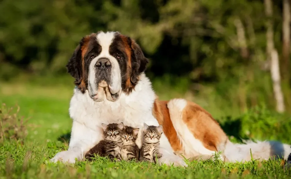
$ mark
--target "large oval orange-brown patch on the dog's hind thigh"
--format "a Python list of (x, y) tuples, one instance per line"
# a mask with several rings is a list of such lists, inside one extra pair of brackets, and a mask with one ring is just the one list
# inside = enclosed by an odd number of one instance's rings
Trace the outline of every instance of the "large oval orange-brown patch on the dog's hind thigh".
[(217, 151), (218, 146), (228, 139), (210, 113), (194, 102), (188, 101), (183, 110), (182, 120), (206, 149)]

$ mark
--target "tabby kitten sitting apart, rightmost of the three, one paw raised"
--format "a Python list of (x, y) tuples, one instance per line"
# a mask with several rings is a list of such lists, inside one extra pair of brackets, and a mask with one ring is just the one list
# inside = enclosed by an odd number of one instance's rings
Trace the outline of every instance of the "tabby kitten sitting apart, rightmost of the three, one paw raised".
[(162, 125), (148, 126), (146, 123), (143, 123), (143, 146), (140, 150), (139, 161), (156, 162), (156, 157), (162, 157), (162, 154), (159, 152), (162, 132)]

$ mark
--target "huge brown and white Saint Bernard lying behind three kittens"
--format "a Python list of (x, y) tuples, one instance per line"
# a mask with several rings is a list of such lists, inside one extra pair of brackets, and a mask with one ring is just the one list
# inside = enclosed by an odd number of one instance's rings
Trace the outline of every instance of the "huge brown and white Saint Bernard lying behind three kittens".
[[(69, 114), (73, 120), (69, 149), (52, 162), (74, 163), (103, 139), (101, 124), (120, 123), (143, 129), (163, 126), (160, 164), (187, 166), (186, 159), (209, 159), (221, 151), (224, 161), (287, 158), (290, 145), (277, 141), (234, 144), (209, 112), (185, 99), (160, 101), (145, 75), (148, 59), (140, 46), (119, 32), (83, 37), (66, 65), (75, 78)], [(140, 130), (139, 136), (143, 130)], [(141, 147), (142, 139), (137, 139)]]

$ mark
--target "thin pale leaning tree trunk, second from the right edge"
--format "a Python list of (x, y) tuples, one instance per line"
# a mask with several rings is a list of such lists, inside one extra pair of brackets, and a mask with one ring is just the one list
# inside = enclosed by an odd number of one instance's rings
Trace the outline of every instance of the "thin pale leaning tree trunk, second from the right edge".
[(267, 16), (267, 60), (271, 61), (270, 72), (273, 81), (273, 91), (276, 100), (276, 109), (278, 112), (285, 111), (284, 98), (281, 90), (281, 79), (280, 79), (280, 67), (279, 67), (279, 57), (278, 52), (274, 47), (274, 32), (273, 32), (273, 9), (272, 1), (264, 0), (265, 13)]

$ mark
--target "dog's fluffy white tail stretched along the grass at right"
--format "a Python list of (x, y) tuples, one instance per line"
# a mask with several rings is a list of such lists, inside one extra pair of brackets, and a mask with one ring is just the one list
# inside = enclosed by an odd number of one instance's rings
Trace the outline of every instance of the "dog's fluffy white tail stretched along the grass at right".
[(289, 144), (278, 141), (244, 141), (244, 143), (227, 141), (222, 150), (225, 160), (230, 162), (250, 161), (252, 158), (261, 160), (284, 158), (287, 160), (291, 153)]

